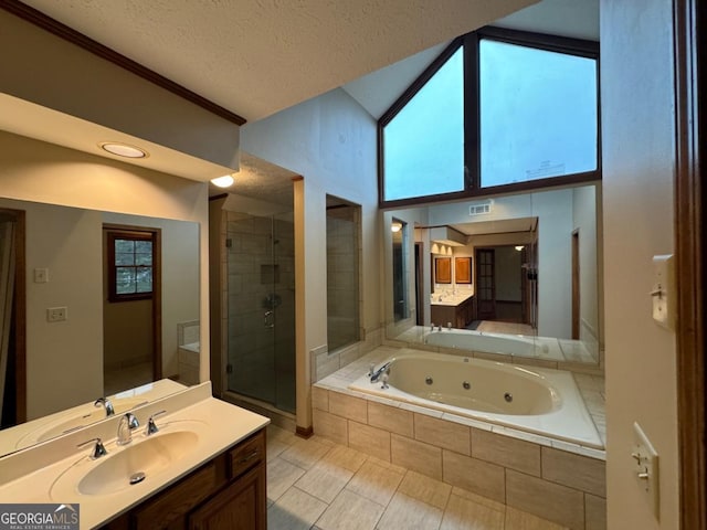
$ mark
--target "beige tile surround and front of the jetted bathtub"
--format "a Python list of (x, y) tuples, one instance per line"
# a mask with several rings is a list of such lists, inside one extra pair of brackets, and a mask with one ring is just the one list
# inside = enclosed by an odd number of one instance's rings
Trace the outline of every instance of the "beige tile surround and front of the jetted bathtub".
[[(462, 488), (505, 510), (532, 512), (572, 529), (605, 528), (604, 452), (347, 390), (370, 362), (397, 351), (381, 347), (313, 388), (317, 436)], [(603, 400), (603, 380), (580, 375), (584, 398)], [(603, 421), (602, 404), (595, 401), (588, 409)], [(465, 510), (462, 504), (454, 506)]]

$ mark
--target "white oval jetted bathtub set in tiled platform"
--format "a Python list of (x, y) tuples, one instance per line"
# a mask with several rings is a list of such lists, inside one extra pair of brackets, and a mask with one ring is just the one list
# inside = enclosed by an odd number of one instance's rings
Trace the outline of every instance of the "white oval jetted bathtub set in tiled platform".
[[(350, 390), (603, 449), (572, 374), (445, 353), (391, 358)], [(384, 381), (387, 379), (387, 381)]]

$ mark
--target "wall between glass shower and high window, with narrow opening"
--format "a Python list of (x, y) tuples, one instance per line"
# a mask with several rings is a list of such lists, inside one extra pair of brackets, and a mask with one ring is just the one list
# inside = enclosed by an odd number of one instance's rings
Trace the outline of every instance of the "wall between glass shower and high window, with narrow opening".
[[(283, 110), (241, 129), (243, 150), (304, 177), (303, 201), (305, 300), (298, 312), (298, 333), (304, 330), (306, 352), (326, 344), (326, 195), (361, 205), (363, 267), (361, 271), (362, 327), (366, 333), (381, 326), (379, 293), (380, 222), (376, 120), (341, 89)], [(297, 221), (296, 221), (297, 224)], [(297, 229), (296, 229), (297, 230)], [(299, 287), (298, 287), (299, 288)], [(304, 320), (304, 322), (303, 322)], [(304, 324), (304, 325), (303, 325)], [(307, 361), (298, 352), (297, 362)], [(298, 381), (297, 424), (310, 424), (307, 382)]]

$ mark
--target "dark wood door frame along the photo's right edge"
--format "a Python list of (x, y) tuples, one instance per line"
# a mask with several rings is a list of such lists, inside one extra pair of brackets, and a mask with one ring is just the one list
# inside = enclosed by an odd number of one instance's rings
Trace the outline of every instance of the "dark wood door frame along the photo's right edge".
[[(707, 407), (705, 406), (705, 263), (707, 206), (704, 109), (707, 80), (704, 62), (707, 7), (699, 0), (674, 0), (675, 39), (675, 254), (677, 282), (677, 431), (680, 528), (707, 529)], [(703, 113), (699, 113), (700, 107)], [(700, 163), (701, 162), (701, 163)]]

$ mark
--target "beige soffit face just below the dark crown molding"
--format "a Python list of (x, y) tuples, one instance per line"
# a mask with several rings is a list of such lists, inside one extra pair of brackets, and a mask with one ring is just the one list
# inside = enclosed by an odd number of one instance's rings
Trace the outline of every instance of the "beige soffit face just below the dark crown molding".
[(0, 93), (238, 169), (235, 124), (3, 10), (0, 26)]

